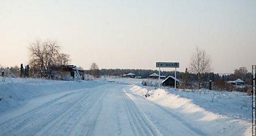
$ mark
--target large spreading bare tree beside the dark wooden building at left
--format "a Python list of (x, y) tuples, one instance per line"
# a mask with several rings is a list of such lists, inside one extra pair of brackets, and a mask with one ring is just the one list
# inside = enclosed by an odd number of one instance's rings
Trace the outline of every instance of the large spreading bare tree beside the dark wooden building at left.
[(39, 40), (31, 43), (28, 48), (30, 51), (30, 67), (34, 73), (44, 72), (44, 76), (49, 76), (50, 66), (55, 64), (55, 60), (60, 52), (60, 45), (56, 41)]

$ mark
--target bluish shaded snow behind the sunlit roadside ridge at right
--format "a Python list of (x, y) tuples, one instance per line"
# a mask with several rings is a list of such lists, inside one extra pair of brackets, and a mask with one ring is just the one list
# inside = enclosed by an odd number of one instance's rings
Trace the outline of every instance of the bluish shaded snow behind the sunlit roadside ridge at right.
[(212, 91), (207, 89), (197, 90), (194, 93), (186, 91), (167, 90), (171, 94), (193, 100), (196, 105), (207, 111), (225, 115), (234, 119), (251, 122), (251, 96), (238, 91)]

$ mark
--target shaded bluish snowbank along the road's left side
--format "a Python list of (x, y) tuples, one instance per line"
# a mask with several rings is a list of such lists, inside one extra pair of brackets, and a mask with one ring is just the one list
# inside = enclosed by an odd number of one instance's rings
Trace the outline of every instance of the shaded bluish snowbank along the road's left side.
[(0, 112), (16, 108), (24, 101), (60, 91), (91, 88), (103, 82), (72, 82), (46, 79), (20, 79), (0, 77)]

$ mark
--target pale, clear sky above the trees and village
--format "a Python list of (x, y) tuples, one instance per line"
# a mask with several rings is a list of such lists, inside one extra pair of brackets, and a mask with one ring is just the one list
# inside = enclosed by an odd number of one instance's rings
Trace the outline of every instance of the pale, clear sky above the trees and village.
[[(0, 64), (28, 63), (35, 39), (56, 40), (71, 63), (89, 69), (189, 67), (199, 46), (213, 72), (256, 64), (256, 1), (0, 0)], [(173, 70), (173, 69), (164, 69)]]

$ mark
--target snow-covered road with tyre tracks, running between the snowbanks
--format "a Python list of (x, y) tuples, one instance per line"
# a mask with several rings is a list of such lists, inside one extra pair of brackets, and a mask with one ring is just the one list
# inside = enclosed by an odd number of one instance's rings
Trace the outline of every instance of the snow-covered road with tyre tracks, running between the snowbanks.
[(103, 83), (32, 98), (0, 115), (0, 135), (243, 134), (225, 133), (222, 129), (212, 133), (197, 127), (171, 109), (133, 94), (129, 88), (127, 84)]

